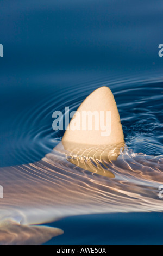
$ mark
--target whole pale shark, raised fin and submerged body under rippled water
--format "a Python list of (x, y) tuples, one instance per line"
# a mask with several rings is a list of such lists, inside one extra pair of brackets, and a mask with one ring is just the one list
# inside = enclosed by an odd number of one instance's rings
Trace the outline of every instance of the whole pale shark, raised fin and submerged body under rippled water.
[(66, 216), (162, 212), (163, 160), (128, 149), (111, 90), (92, 92), (77, 110), (83, 111), (109, 111), (110, 133), (70, 129), (78, 122), (74, 114), (60, 143), (43, 159), (0, 168), (1, 245), (45, 243), (64, 233), (45, 223)]

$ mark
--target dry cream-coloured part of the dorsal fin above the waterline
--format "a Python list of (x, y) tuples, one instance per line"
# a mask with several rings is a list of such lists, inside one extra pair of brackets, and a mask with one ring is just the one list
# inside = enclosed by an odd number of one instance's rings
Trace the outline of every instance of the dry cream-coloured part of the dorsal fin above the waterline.
[[(87, 112), (87, 121), (92, 119), (92, 129), (89, 130), (88, 124), (83, 126), (86, 119), (82, 118)], [(108, 116), (106, 113), (108, 112)], [(109, 115), (110, 112), (110, 115)], [(78, 114), (77, 114), (78, 113)], [(89, 115), (90, 113), (90, 115)], [(80, 117), (79, 117), (80, 115)], [(96, 115), (96, 128), (95, 128)], [(104, 119), (103, 119), (104, 117)], [(71, 129), (72, 124), (80, 124), (78, 130)], [(103, 120), (102, 120), (103, 119)], [(98, 124), (97, 124), (98, 122)], [(104, 132), (108, 122), (108, 133)], [(90, 123), (91, 124), (91, 123)], [(77, 124), (78, 125), (78, 124)], [(84, 129), (83, 129), (84, 127)], [(90, 127), (91, 128), (91, 127)], [(69, 130), (68, 130), (69, 129)], [(62, 143), (66, 146), (70, 144), (78, 145), (117, 145), (124, 141), (120, 115), (111, 90), (108, 87), (100, 87), (92, 92), (77, 109), (70, 125), (62, 138)], [(109, 131), (110, 129), (110, 131)], [(110, 133), (109, 133), (110, 132)], [(68, 147), (69, 147), (68, 146)]]

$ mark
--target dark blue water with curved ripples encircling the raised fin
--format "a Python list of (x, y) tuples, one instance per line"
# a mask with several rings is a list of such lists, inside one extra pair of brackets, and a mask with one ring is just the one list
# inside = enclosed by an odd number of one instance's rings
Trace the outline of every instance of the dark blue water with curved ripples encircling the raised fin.
[[(11, 130), (14, 143), (9, 155), (17, 164), (39, 161), (57, 145), (64, 131), (52, 129), (54, 111), (64, 114), (65, 107), (76, 110), (93, 90), (109, 86), (120, 112), (125, 141), (135, 153), (162, 155), (162, 82), (156, 80), (106, 78), (51, 90), (37, 105), (21, 112), (14, 119)], [(123, 88), (123, 89), (122, 89)], [(12, 129), (13, 127), (13, 129)]]

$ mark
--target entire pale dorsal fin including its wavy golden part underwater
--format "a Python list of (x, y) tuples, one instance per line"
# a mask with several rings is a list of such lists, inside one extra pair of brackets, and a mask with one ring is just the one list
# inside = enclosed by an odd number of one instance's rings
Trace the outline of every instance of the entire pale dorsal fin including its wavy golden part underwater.
[[(90, 114), (94, 113), (98, 119), (95, 124), (95, 116), (89, 115), (92, 130), (89, 130), (88, 124), (83, 130), (83, 122), (86, 119), (81, 117), (88, 111)], [(110, 113), (109, 121), (106, 118), (107, 113)], [(80, 124), (78, 124), (79, 121)], [(73, 130), (74, 124), (78, 126), (78, 130)], [(98, 130), (95, 129), (97, 126)], [(108, 127), (105, 131), (104, 126)], [(108, 87), (98, 88), (83, 101), (62, 138), (62, 145), (68, 152), (67, 160), (71, 163), (103, 176), (114, 177), (112, 173), (106, 171), (107, 168), (105, 169), (104, 166), (105, 163), (117, 159), (120, 148), (124, 146), (124, 136), (117, 105)]]

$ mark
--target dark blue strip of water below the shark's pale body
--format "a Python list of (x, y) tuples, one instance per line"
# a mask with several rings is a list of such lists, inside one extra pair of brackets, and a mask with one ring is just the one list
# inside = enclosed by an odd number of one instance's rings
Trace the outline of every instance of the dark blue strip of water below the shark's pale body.
[(45, 245), (162, 245), (162, 223), (160, 213), (68, 217), (55, 222), (64, 235)]

